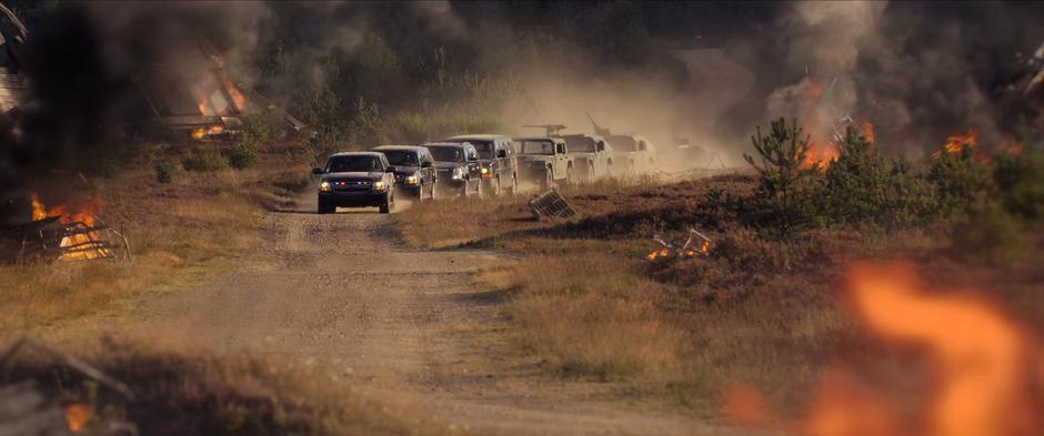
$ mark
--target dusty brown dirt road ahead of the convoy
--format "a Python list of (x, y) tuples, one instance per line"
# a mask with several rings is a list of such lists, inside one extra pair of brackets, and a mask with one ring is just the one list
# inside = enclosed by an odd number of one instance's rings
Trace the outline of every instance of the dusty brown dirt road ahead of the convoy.
[(141, 321), (222, 352), (323, 365), (473, 434), (726, 434), (595, 399), (600, 384), (555, 382), (505, 361), (490, 339), (505, 327), (500, 303), (469, 285), (500, 255), (405, 250), (392, 216), (311, 210), (268, 215), (271, 240), (255, 267), (148, 301)]

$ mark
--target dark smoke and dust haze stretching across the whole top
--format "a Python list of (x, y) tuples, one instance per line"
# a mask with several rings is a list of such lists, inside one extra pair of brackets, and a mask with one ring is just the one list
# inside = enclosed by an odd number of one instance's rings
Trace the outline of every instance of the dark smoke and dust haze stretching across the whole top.
[(1027, 2), (6, 3), (30, 29), (23, 72), (40, 101), (26, 139), (0, 144), (11, 171), (104, 150), (113, 125), (143, 113), (137, 83), (198, 53), (198, 34), (287, 108), (325, 87), (325, 122), (350, 119), (361, 97), (384, 116), (431, 113), (451, 98), (429, 92), (445, 70), (460, 89), (510, 85), (482, 108), (509, 133), (590, 132), (590, 112), (661, 146), (689, 138), (731, 156), (775, 116), (823, 136), (849, 115), (912, 156), (968, 128), (1000, 141), (1022, 112), (997, 89), (1044, 42), (1044, 3)]

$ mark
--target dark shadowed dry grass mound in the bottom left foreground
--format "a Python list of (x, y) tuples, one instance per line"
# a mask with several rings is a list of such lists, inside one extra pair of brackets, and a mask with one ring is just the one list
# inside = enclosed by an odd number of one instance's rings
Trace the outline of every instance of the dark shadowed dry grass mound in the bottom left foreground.
[(133, 403), (28, 348), (9, 375), (33, 378), (66, 402), (88, 404), (97, 418), (129, 419), (143, 435), (449, 433), (446, 425), (422, 418), (409, 405), (391, 406), (318, 368), (219, 358), (154, 341), (78, 345), (81, 358), (134, 391)]

